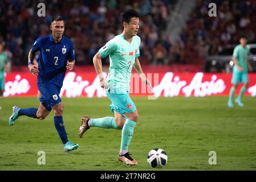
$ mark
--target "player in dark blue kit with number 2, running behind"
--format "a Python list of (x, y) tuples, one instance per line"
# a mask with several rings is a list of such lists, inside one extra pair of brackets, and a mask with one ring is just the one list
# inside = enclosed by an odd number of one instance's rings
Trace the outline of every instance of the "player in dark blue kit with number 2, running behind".
[[(38, 38), (29, 52), (29, 71), (33, 76), (38, 75), (38, 89), (42, 93), (39, 108), (21, 109), (14, 106), (9, 125), (14, 125), (21, 115), (42, 120), (53, 110), (55, 128), (64, 144), (64, 151), (69, 152), (76, 150), (79, 144), (68, 141), (59, 93), (66, 69), (72, 70), (75, 65), (75, 51), (72, 41), (63, 36), (64, 21), (60, 16), (52, 18), (50, 28), (52, 34)], [(38, 66), (32, 64), (37, 51), (40, 51)]]

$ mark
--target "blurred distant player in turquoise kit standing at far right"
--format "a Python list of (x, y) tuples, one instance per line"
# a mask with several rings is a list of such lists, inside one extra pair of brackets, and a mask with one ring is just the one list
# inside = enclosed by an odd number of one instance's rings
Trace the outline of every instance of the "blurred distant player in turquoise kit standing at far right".
[(240, 44), (234, 48), (234, 52), (233, 52), (234, 67), (233, 67), (233, 75), (231, 80), (231, 83), (233, 84), (233, 86), (230, 89), (229, 101), (227, 102), (227, 106), (229, 107), (234, 107), (233, 98), (234, 98), (235, 89), (237, 88), (237, 85), (239, 84), (239, 82), (241, 82), (243, 86), (239, 92), (238, 97), (235, 98), (235, 102), (238, 104), (238, 106), (243, 107), (243, 103), (241, 99), (248, 87), (248, 82), (249, 82), (248, 69), (250, 72), (252, 71), (251, 65), (247, 59), (250, 48), (246, 46), (246, 43), (247, 43), (246, 37), (241, 36), (241, 38), (239, 39), (239, 42)]

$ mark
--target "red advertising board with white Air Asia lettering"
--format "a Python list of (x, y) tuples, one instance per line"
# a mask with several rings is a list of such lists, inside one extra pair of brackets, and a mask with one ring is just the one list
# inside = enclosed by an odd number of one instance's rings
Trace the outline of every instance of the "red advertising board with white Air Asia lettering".
[[(107, 73), (105, 73), (107, 75)], [(152, 82), (149, 89), (132, 73), (130, 93), (132, 96), (228, 96), (231, 88), (231, 73), (145, 73)], [(36, 77), (30, 73), (7, 73), (5, 77), (4, 97), (36, 96), (38, 92)], [(239, 89), (237, 89), (237, 93)], [(256, 96), (256, 74), (249, 73), (249, 87), (245, 95)], [(62, 97), (105, 97), (105, 92), (99, 85), (95, 72), (67, 72), (62, 91)]]

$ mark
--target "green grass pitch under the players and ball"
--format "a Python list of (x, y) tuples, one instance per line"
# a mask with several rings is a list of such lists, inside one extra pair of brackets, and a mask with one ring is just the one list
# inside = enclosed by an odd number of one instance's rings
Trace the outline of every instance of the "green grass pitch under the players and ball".
[[(245, 107), (230, 109), (227, 97), (174, 97), (147, 100), (132, 97), (139, 111), (129, 151), (138, 161), (129, 167), (117, 161), (121, 130), (93, 127), (80, 139), (80, 118), (112, 116), (108, 98), (63, 98), (68, 139), (80, 144), (65, 154), (53, 114), (44, 121), (22, 116), (14, 126), (11, 107), (38, 107), (36, 98), (1, 98), (0, 170), (159, 170), (147, 163), (152, 148), (162, 148), (168, 163), (160, 170), (255, 170), (256, 100), (244, 97)], [(38, 164), (38, 151), (46, 164)], [(210, 165), (209, 151), (217, 164)]]

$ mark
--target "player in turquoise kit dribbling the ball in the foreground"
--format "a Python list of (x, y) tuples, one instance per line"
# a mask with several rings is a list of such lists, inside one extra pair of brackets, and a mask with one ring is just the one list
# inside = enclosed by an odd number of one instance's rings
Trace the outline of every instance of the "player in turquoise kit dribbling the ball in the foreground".
[[(138, 112), (135, 104), (129, 97), (129, 81), (132, 67), (139, 73), (141, 80), (151, 88), (151, 82), (145, 77), (140, 61), (140, 38), (137, 36), (139, 30), (139, 13), (128, 9), (122, 14), (123, 33), (109, 40), (105, 46), (99, 49), (94, 56), (94, 67), (100, 78), (100, 85), (112, 101), (109, 106), (115, 117), (104, 117), (92, 119), (82, 117), (79, 129), (79, 137), (90, 127), (101, 127), (106, 129), (120, 129), (121, 147), (118, 159), (127, 165), (137, 165), (128, 153), (128, 146), (133, 136), (133, 129), (138, 121)], [(101, 59), (109, 55), (109, 71), (107, 80), (102, 73)]]

